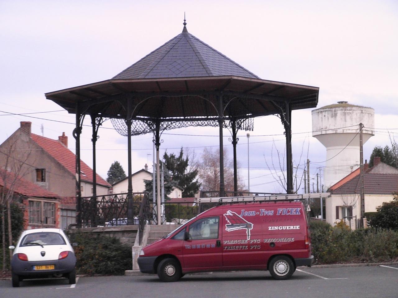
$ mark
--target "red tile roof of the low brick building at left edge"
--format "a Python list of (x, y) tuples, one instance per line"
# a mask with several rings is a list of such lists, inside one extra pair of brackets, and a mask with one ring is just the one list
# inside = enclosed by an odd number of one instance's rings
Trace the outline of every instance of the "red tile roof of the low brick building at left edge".
[(59, 195), (54, 194), (53, 192), (49, 192), (40, 186), (29, 182), (23, 178), (17, 177), (6, 170), (0, 169), (0, 186), (4, 187), (4, 178), (6, 179), (6, 187), (10, 187), (10, 185), (14, 182), (14, 193), (25, 195), (27, 197), (46, 197), (46, 198), (59, 198)]

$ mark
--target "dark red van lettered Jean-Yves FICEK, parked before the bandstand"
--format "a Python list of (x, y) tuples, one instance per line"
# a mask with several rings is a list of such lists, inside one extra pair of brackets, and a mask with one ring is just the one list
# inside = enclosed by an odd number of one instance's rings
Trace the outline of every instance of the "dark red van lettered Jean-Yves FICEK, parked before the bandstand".
[(145, 246), (142, 273), (178, 281), (185, 273), (269, 270), (288, 279), (297, 266), (311, 266), (310, 234), (301, 201), (220, 203)]

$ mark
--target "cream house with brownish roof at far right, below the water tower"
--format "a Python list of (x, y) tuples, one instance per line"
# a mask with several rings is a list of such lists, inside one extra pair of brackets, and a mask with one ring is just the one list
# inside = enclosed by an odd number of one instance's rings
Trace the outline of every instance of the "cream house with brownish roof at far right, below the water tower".
[[(382, 163), (380, 157), (373, 160), (374, 166), (364, 164), (365, 213), (375, 212), (384, 202), (392, 201), (393, 193), (398, 192), (398, 169)], [(351, 228), (355, 228), (355, 219), (360, 219), (360, 181), (359, 168), (351, 172), (328, 192), (326, 199), (326, 221), (335, 224), (344, 220)]]

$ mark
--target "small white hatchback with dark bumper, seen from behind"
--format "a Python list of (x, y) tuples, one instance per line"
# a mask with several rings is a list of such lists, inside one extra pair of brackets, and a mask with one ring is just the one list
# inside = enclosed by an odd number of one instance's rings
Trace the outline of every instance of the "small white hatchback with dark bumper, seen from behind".
[(66, 277), (76, 283), (76, 257), (68, 237), (60, 229), (39, 228), (23, 231), (11, 260), (12, 286), (23, 279)]

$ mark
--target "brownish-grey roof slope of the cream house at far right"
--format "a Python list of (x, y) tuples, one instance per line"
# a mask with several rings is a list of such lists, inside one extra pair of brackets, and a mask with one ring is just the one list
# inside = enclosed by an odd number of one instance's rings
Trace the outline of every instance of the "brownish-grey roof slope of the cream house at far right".
[[(390, 195), (398, 192), (398, 174), (371, 174), (363, 175), (365, 194)], [(334, 195), (359, 194), (359, 175), (345, 182), (332, 191)]]

